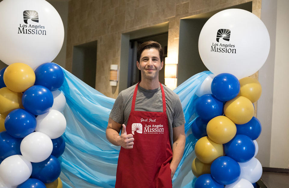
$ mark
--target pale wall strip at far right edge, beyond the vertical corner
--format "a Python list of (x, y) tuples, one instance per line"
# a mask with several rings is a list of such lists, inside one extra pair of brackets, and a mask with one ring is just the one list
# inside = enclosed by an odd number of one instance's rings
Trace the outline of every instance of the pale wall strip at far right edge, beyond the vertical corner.
[(276, 52), (270, 151), (270, 167), (275, 168), (288, 168), (289, 160), (288, 8), (288, 0), (277, 1)]

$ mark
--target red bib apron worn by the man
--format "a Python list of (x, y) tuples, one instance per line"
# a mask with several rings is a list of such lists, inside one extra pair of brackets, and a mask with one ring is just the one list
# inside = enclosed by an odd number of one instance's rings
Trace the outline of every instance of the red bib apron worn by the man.
[[(133, 134), (132, 149), (121, 147), (117, 164), (116, 188), (170, 188), (172, 148), (166, 99), (160, 84), (163, 112), (135, 111), (138, 84), (132, 98), (132, 110), (126, 125), (127, 134)], [(152, 104), (153, 105), (153, 104)]]

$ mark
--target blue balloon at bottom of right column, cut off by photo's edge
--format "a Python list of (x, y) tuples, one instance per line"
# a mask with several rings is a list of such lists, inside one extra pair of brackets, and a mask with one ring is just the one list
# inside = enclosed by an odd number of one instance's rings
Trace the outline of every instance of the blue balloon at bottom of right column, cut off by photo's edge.
[(224, 185), (213, 180), (211, 174), (203, 174), (197, 178), (194, 188), (224, 188)]

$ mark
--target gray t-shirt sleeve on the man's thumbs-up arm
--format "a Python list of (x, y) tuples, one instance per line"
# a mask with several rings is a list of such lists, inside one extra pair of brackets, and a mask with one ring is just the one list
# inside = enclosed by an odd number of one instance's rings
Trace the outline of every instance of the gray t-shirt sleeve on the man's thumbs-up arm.
[(123, 96), (120, 92), (120, 94), (117, 96), (117, 99), (115, 99), (115, 102), (113, 104), (113, 107), (110, 111), (109, 117), (120, 124), (123, 124)]

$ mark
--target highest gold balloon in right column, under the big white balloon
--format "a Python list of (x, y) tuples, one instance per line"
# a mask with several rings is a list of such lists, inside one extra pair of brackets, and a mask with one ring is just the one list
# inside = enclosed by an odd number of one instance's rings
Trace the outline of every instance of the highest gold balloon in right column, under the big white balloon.
[(238, 96), (243, 96), (248, 98), (252, 103), (256, 102), (262, 93), (262, 87), (258, 80), (245, 77), (240, 81), (240, 92)]

